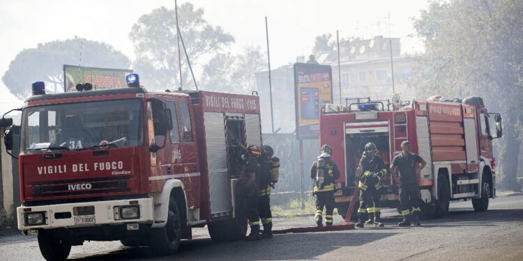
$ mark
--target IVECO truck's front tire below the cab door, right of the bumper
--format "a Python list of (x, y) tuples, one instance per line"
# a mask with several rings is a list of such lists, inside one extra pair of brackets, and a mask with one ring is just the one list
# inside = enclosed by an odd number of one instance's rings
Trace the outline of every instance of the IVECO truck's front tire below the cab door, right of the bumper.
[(169, 199), (167, 224), (163, 228), (153, 228), (151, 248), (158, 255), (172, 255), (178, 251), (181, 242), (182, 216), (176, 199)]

